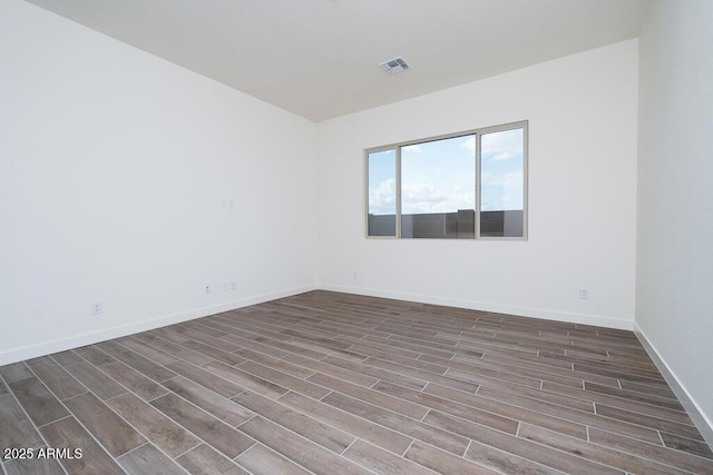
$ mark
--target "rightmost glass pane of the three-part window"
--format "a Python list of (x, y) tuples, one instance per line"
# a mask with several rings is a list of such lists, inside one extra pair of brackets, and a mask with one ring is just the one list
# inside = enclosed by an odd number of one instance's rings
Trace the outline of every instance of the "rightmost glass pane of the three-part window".
[(480, 236), (524, 237), (524, 129), (480, 136)]

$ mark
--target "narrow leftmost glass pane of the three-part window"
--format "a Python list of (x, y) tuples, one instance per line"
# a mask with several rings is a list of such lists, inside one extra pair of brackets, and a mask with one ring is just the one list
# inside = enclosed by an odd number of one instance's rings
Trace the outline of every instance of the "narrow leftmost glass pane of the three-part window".
[(397, 235), (397, 152), (374, 151), (368, 157), (369, 236)]

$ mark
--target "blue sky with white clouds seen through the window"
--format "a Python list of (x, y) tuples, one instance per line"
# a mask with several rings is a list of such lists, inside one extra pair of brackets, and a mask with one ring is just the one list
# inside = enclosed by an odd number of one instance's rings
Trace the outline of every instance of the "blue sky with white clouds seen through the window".
[[(401, 150), (402, 212), (475, 209), (475, 135)], [(522, 209), (522, 129), (481, 136), (481, 209)], [(369, 212), (395, 212), (395, 151), (369, 156)]]

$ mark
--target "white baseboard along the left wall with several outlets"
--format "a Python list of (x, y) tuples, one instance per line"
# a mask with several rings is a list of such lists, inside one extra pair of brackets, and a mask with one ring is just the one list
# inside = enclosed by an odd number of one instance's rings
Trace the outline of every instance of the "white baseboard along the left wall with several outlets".
[(21, 348), (12, 348), (9, 350), (0, 352), (0, 366), (36, 358), (38, 356), (49, 355), (57, 352), (78, 348), (81, 346), (105, 342), (107, 339), (119, 338), (123, 336), (159, 328), (167, 325), (179, 324), (182, 321), (187, 321), (195, 318), (207, 317), (208, 315), (234, 310), (236, 308), (247, 307), (248, 305), (262, 304), (263, 301), (289, 297), (291, 295), (302, 294), (304, 291), (314, 289), (316, 289), (316, 286), (314, 285), (295, 287), (291, 289), (279, 290), (275, 293), (246, 297), (238, 300), (225, 301), (208, 307), (194, 308), (186, 311), (179, 311), (177, 314), (164, 315), (157, 318), (136, 321), (129, 325), (120, 325), (99, 331), (90, 331), (72, 336), (71, 338), (60, 338), (50, 342), (41, 342), (36, 345), (25, 346)]

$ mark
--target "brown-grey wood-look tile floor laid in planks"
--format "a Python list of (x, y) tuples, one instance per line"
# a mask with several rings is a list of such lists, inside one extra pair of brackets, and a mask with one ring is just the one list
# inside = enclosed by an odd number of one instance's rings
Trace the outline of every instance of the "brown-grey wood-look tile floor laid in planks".
[(0, 367), (0, 422), (8, 475), (713, 473), (631, 331), (329, 291)]

